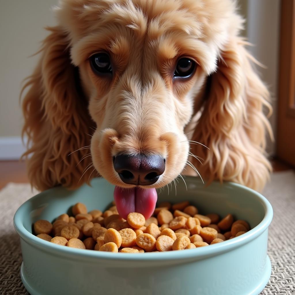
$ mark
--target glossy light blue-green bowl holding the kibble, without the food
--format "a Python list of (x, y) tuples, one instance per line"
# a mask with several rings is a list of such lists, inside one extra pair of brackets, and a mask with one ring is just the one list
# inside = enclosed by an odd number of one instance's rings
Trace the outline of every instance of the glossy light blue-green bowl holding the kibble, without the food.
[(156, 253), (108, 253), (55, 245), (32, 234), (38, 219), (52, 221), (77, 202), (105, 209), (114, 186), (102, 178), (76, 191), (53, 188), (22, 204), (14, 216), (20, 236), (21, 278), (32, 295), (250, 295), (259, 294), (271, 274), (267, 255), (273, 210), (261, 194), (235, 183), (206, 187), (186, 177), (175, 190), (162, 190), (159, 201), (188, 200), (203, 214), (232, 213), (252, 230), (207, 247)]

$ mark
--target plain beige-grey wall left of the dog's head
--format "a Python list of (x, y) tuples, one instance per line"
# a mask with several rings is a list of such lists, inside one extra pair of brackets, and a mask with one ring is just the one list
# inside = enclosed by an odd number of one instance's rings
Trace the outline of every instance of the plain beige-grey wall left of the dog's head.
[(0, 137), (19, 136), (22, 80), (32, 73), (44, 27), (54, 24), (57, 0), (0, 0)]

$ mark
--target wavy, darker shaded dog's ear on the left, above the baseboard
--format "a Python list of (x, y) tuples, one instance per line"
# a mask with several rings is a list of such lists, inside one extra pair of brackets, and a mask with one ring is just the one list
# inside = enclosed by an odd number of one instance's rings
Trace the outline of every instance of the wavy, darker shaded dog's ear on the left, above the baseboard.
[(90, 153), (84, 147), (90, 145), (93, 122), (87, 101), (77, 90), (78, 69), (71, 64), (69, 38), (61, 27), (47, 30), (50, 35), (40, 50), (39, 63), (23, 88), (29, 87), (22, 108), (23, 135), (30, 146), (23, 156), (32, 186), (40, 190), (59, 184), (74, 188), (87, 181), (92, 171), (82, 177), (91, 157), (79, 161)]

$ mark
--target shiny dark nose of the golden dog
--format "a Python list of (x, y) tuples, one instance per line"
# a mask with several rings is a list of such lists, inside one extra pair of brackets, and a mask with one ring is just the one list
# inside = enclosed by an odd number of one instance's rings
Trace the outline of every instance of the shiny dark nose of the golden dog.
[(155, 183), (165, 171), (165, 160), (159, 155), (117, 155), (114, 168), (122, 181), (128, 184), (149, 185)]

